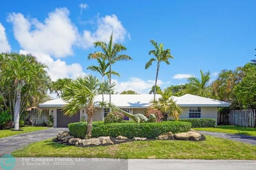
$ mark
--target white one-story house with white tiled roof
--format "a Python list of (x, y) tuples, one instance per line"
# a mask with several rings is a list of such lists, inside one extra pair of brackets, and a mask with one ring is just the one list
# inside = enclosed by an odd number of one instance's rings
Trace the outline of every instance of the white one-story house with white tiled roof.
[[(160, 95), (156, 95), (159, 98)], [(108, 101), (109, 95), (104, 95), (105, 101)], [(139, 95), (111, 95), (111, 103), (115, 106), (123, 109), (126, 112), (137, 114), (145, 113), (145, 110), (150, 106), (150, 101), (154, 99), (154, 95), (151, 94), (139, 94)], [(218, 101), (205, 97), (199, 97), (195, 95), (186, 94), (181, 97), (173, 96), (176, 104), (183, 110), (180, 119), (195, 119), (195, 118), (213, 118), (217, 119), (217, 108), (227, 107), (230, 105), (228, 102)], [(98, 95), (96, 101), (102, 101), (102, 95)], [(49, 108), (49, 113), (54, 117), (54, 127), (67, 127), (67, 124), (71, 122), (79, 122), (81, 118), (87, 120), (87, 114), (85, 108), (82, 108), (78, 114), (68, 117), (63, 115), (62, 106), (66, 103), (62, 99), (54, 99), (51, 101), (39, 104), (40, 107)], [(109, 112), (109, 109), (97, 107), (93, 117), (93, 121), (102, 121)], [(168, 118), (170, 119), (170, 118)], [(128, 117), (124, 117), (124, 120), (129, 120)]]

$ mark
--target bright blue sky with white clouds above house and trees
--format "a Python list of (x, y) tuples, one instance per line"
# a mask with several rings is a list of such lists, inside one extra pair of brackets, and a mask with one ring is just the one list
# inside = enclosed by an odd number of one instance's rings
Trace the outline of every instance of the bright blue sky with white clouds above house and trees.
[(33, 53), (49, 65), (53, 80), (98, 76), (86, 69), (96, 64), (87, 55), (98, 50), (93, 40), (107, 40), (113, 29), (133, 58), (113, 65), (121, 74), (113, 77), (117, 91), (148, 93), (156, 74), (156, 63), (144, 69), (151, 58), (149, 40), (163, 43), (174, 56), (170, 65), (160, 65), (161, 87), (184, 84), (184, 77), (199, 76), (200, 69), (210, 70), (214, 80), (220, 70), (255, 59), (255, 7), (254, 0), (9, 0), (0, 7), (0, 51)]

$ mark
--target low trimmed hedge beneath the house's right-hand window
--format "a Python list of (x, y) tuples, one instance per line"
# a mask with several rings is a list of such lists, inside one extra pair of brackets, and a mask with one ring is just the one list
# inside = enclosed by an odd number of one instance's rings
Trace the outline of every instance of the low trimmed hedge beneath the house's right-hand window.
[[(171, 119), (170, 121), (174, 121)], [(216, 119), (179, 119), (178, 121), (190, 122), (192, 128), (214, 128), (216, 127)]]

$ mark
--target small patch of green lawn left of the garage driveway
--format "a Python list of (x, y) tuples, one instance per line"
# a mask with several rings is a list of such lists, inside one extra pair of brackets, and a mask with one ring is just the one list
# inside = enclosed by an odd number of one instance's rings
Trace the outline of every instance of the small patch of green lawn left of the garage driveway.
[(19, 131), (14, 131), (14, 129), (0, 130), (0, 138), (12, 136), (12, 135), (18, 135), (21, 133), (33, 132), (37, 130), (45, 130), (45, 129), (48, 129), (48, 128), (41, 127), (41, 126), (24, 126), (20, 128)]

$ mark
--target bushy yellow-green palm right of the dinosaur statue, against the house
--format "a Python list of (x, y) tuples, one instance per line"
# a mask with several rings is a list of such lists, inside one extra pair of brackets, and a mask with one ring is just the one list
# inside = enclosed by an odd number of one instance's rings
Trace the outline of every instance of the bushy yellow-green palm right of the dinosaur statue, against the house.
[(158, 90), (158, 94), (160, 94), (161, 97), (157, 100), (150, 101), (150, 106), (163, 113), (165, 121), (167, 120), (167, 115), (178, 120), (183, 110), (180, 106), (176, 105), (176, 102), (173, 100), (171, 90), (168, 90), (167, 88), (164, 90)]

